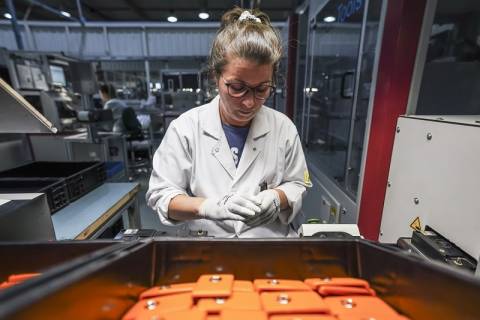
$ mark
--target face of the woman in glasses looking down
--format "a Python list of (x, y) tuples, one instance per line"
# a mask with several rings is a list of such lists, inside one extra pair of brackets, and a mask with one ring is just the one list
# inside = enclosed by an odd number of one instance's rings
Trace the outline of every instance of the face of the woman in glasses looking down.
[(229, 95), (228, 86), (243, 84), (254, 88), (260, 85), (271, 84), (273, 66), (271, 64), (257, 64), (242, 58), (229, 58), (221, 76), (217, 79), (220, 95), (220, 117), (222, 122), (245, 127), (255, 117), (265, 100), (254, 97), (249, 90), (243, 97), (235, 98)]

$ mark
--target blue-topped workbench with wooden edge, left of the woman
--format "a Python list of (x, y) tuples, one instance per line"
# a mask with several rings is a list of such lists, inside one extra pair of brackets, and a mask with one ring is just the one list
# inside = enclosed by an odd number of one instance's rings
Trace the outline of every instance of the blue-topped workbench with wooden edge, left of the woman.
[(137, 193), (134, 182), (104, 183), (52, 215), (57, 240), (94, 239), (118, 220), (125, 227), (139, 228)]

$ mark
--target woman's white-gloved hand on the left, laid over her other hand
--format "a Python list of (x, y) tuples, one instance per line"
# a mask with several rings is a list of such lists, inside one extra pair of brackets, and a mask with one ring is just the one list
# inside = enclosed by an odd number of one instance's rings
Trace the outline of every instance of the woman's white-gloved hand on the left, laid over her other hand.
[(209, 220), (244, 221), (260, 212), (259, 204), (256, 197), (229, 194), (220, 199), (207, 198), (200, 205), (198, 214)]

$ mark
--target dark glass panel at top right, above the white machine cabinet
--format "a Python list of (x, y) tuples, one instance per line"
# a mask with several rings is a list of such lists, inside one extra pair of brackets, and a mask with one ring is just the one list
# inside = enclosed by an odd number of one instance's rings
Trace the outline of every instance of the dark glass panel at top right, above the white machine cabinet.
[(480, 1), (438, 1), (416, 114), (480, 114)]

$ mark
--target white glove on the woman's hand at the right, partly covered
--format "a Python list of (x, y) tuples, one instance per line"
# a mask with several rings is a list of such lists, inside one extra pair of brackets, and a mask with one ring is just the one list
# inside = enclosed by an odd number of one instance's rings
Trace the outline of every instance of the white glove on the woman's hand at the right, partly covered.
[(250, 227), (258, 227), (262, 224), (269, 224), (278, 218), (280, 213), (280, 195), (273, 189), (265, 190), (257, 195), (260, 202), (260, 212), (254, 217), (245, 221)]

